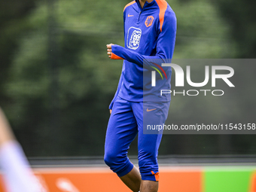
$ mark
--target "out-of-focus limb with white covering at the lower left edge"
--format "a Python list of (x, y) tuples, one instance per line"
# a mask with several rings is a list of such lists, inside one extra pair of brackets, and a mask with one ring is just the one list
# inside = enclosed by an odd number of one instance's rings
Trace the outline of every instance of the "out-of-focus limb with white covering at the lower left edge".
[(8, 192), (46, 192), (29, 168), (23, 150), (0, 108), (0, 168)]

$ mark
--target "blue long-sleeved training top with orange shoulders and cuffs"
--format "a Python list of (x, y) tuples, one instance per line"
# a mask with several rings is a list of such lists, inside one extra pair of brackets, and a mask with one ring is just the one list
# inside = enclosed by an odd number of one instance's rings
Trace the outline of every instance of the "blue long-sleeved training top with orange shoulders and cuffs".
[[(155, 101), (153, 97), (156, 95), (159, 101), (171, 99), (170, 94), (160, 96), (161, 89), (170, 90), (172, 75), (171, 67), (162, 68), (160, 63), (172, 59), (176, 23), (174, 11), (164, 0), (145, 2), (143, 8), (139, 4), (139, 0), (125, 6), (123, 9), (125, 47), (112, 45), (111, 59), (124, 60), (117, 92), (109, 106), (110, 109), (117, 96), (131, 102)], [(148, 72), (157, 70), (163, 72), (163, 75), (157, 73), (157, 86), (148, 87), (148, 91), (144, 89), (143, 92), (143, 87), (149, 86), (151, 82), (150, 78), (147, 85), (143, 84), (145, 70)], [(166, 78), (166, 81), (163, 81), (162, 76)]]

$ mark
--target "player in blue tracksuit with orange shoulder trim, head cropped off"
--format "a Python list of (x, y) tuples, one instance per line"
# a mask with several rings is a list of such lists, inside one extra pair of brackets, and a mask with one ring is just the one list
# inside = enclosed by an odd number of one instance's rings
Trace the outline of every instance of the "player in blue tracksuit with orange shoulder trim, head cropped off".
[[(111, 116), (105, 137), (105, 163), (133, 191), (158, 190), (157, 154), (162, 134), (144, 134), (144, 122), (162, 125), (169, 111), (171, 69), (158, 62), (172, 59), (175, 47), (176, 17), (164, 0), (136, 0), (123, 9), (124, 44), (107, 44), (108, 57), (123, 59), (120, 81), (109, 109)], [(157, 87), (143, 91), (143, 72), (164, 72)], [(164, 71), (163, 71), (164, 69)], [(160, 76), (160, 75), (158, 75)], [(161, 75), (162, 76), (162, 75)], [(157, 98), (157, 100), (156, 100)], [(139, 170), (127, 157), (130, 143), (138, 134)]]

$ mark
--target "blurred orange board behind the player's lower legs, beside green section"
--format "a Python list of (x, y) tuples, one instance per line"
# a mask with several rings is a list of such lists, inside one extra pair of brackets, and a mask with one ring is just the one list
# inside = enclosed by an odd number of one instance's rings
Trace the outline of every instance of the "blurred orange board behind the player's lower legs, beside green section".
[[(116, 174), (108, 168), (34, 169), (50, 192), (130, 192)], [(159, 192), (202, 192), (203, 171), (198, 168), (160, 167)], [(0, 181), (0, 192), (3, 190)]]

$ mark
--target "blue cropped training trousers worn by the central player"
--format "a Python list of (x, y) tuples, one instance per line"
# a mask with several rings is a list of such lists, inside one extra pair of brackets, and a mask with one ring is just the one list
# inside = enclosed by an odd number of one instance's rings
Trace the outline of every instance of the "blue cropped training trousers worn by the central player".
[[(138, 160), (142, 180), (158, 181), (157, 154), (162, 133), (143, 134), (149, 125), (165, 123), (170, 102), (129, 102), (119, 96), (114, 101), (105, 138), (105, 163), (119, 177), (133, 169), (127, 157), (130, 143), (138, 135)], [(143, 124), (144, 120), (147, 123)]]

